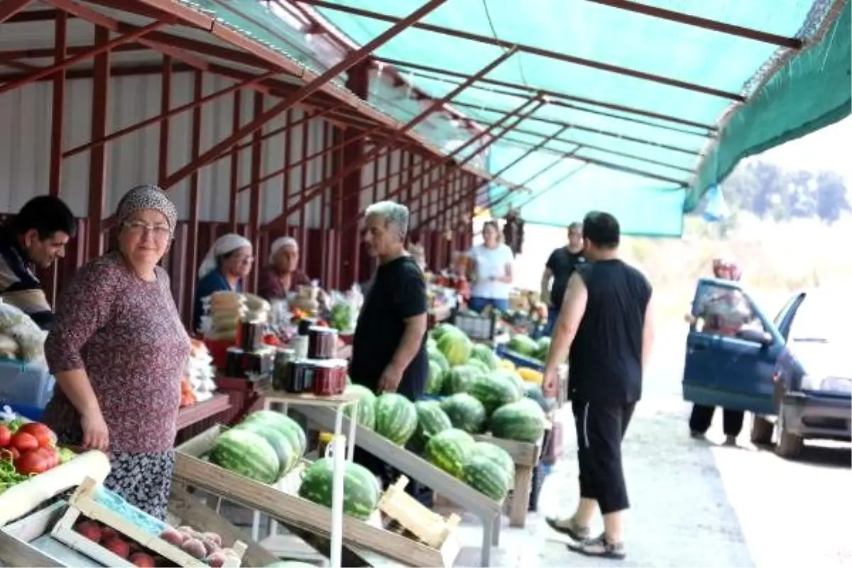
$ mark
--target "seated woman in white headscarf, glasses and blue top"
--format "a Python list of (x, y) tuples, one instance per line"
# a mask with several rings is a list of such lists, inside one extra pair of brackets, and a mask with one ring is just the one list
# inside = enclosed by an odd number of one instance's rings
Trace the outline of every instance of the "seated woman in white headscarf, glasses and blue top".
[(193, 330), (198, 330), (204, 313), (202, 300), (214, 292), (243, 291), (243, 278), (255, 261), (251, 241), (233, 232), (216, 239), (199, 267), (195, 286)]

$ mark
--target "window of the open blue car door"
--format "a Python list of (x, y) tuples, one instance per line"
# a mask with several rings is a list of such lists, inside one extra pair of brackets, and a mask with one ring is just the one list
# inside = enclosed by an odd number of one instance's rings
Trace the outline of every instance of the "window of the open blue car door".
[(746, 328), (765, 331), (748, 296), (711, 283), (701, 284), (693, 308), (695, 330), (718, 336), (735, 336)]

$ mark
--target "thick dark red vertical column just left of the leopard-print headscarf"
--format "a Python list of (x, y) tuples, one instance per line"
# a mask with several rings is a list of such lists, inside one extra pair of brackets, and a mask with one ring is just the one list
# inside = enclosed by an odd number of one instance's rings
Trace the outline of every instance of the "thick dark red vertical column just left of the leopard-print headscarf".
[[(95, 49), (109, 43), (109, 30), (95, 27)], [(109, 50), (100, 49), (95, 55), (92, 76), (92, 140), (107, 135), (107, 116), (109, 116)], [(104, 201), (107, 191), (107, 156), (104, 146), (92, 148), (89, 152), (89, 239), (88, 258), (103, 254), (104, 239), (101, 226), (104, 219)]]

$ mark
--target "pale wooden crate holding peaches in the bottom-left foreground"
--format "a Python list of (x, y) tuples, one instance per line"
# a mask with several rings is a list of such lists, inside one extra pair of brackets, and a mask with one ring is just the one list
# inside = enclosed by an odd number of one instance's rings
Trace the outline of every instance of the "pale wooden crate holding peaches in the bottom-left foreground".
[[(169, 559), (181, 568), (208, 568), (208, 565), (203, 560), (194, 558), (185, 553), (180, 548), (173, 544), (164, 541), (159, 536), (153, 536), (147, 531), (144, 531), (139, 526), (124, 519), (118, 513), (104, 507), (101, 503), (95, 500), (95, 490), (97, 484), (94, 479), (86, 479), (83, 484), (78, 487), (71, 497), (69, 506), (65, 514), (59, 522), (54, 525), (51, 535), (67, 546), (74, 548), (85, 554), (91, 559), (95, 559), (101, 565), (107, 568), (134, 568), (130, 561), (119, 557), (117, 554), (112, 554), (100, 544), (90, 541), (85, 536), (74, 531), (74, 523), (77, 522), (80, 515), (84, 515), (89, 519), (96, 520), (103, 525), (107, 525), (118, 531), (118, 533), (127, 536), (130, 540), (138, 542), (142, 548), (152, 551), (154, 554), (159, 554), (165, 559)], [(239, 568), (243, 554), (245, 554), (245, 543), (234, 542), (233, 550), (239, 558), (228, 557), (224, 568)]]

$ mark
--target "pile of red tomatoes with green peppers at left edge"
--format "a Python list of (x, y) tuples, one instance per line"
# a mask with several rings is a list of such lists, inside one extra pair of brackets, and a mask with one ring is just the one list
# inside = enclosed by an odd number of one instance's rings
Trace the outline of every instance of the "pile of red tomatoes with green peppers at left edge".
[(56, 434), (41, 422), (0, 422), (0, 492), (67, 462), (73, 452), (56, 446)]

